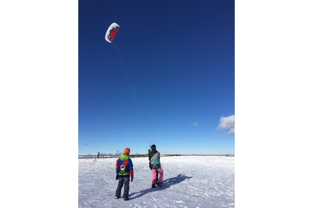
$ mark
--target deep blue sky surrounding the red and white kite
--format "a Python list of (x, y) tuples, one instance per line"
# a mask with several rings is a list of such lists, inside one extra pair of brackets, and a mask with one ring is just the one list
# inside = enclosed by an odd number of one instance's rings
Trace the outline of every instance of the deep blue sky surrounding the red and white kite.
[(234, 153), (234, 12), (233, 0), (79, 0), (79, 154)]

